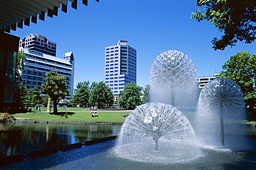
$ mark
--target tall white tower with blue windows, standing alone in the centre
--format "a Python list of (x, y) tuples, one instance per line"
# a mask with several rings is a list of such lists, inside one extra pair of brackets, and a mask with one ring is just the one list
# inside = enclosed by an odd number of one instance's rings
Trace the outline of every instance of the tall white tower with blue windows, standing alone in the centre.
[(116, 100), (127, 83), (136, 83), (136, 49), (118, 41), (105, 47), (104, 82), (111, 88)]

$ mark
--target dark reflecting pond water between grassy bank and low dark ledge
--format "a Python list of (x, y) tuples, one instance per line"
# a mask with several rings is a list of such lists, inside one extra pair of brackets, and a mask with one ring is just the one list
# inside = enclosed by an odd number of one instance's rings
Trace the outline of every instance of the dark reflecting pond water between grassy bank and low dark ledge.
[(117, 135), (120, 125), (0, 123), (0, 158)]

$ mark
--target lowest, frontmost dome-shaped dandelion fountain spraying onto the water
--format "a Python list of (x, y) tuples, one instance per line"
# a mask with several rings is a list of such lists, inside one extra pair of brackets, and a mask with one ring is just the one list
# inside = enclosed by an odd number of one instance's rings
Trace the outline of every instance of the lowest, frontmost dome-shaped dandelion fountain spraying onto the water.
[(194, 131), (172, 105), (146, 103), (129, 114), (122, 125), (116, 155), (140, 162), (190, 162), (203, 156), (194, 145)]

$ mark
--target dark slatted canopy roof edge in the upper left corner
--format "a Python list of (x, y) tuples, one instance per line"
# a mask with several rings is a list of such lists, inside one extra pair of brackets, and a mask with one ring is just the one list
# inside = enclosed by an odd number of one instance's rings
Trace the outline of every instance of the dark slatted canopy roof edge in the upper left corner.
[[(77, 9), (77, 0), (0, 0), (0, 30), (10, 32), (37, 23), (37, 17), (44, 21), (48, 17), (57, 16), (58, 9), (67, 12), (67, 1), (72, 8)], [(80, 0), (87, 6), (88, 0)], [(99, 1), (99, 0), (95, 0)]]

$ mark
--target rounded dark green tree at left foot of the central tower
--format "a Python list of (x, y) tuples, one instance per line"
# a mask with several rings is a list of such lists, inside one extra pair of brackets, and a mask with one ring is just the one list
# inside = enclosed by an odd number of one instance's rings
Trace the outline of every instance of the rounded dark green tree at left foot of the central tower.
[(109, 86), (101, 81), (91, 90), (89, 101), (92, 105), (98, 103), (98, 107), (102, 107), (104, 104), (113, 104), (113, 93)]

